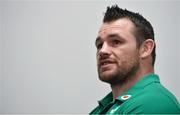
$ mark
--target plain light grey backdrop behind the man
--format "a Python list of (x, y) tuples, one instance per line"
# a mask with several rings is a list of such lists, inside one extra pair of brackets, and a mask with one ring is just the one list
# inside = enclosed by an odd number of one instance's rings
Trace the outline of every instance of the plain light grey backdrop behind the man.
[(156, 73), (180, 100), (179, 1), (0, 1), (0, 113), (88, 113), (110, 91), (94, 40), (106, 6), (154, 26)]

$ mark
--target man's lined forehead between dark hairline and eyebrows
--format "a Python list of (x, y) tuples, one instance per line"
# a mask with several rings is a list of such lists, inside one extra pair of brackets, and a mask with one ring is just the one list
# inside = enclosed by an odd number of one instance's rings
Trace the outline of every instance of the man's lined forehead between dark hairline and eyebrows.
[(98, 32), (98, 36), (106, 37), (109, 34), (126, 34), (132, 35), (134, 24), (127, 18), (118, 19), (116, 21), (103, 23)]

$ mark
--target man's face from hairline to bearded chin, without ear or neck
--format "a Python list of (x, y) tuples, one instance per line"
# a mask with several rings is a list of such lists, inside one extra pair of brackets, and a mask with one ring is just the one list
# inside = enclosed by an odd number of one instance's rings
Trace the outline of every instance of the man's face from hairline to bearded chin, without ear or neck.
[(119, 83), (139, 68), (139, 53), (134, 25), (126, 18), (102, 24), (96, 39), (100, 80)]

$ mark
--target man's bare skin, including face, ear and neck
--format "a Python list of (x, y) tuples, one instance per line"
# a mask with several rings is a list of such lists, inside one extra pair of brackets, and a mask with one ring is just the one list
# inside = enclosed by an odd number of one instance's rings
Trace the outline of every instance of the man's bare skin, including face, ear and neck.
[(142, 76), (153, 73), (151, 52), (154, 41), (141, 46), (134, 36), (134, 24), (127, 18), (103, 23), (96, 39), (99, 79), (111, 85), (113, 98), (134, 85)]

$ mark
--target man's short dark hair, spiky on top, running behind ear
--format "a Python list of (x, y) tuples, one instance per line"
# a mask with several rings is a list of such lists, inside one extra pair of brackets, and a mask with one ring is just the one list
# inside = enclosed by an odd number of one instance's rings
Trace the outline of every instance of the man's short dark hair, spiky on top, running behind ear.
[[(108, 6), (105, 12), (103, 23), (116, 21), (120, 18), (128, 18), (135, 25), (135, 37), (138, 46), (140, 46), (146, 39), (154, 40), (154, 30), (149, 21), (147, 21), (139, 13), (131, 12), (127, 9), (119, 8), (118, 5)], [(154, 47), (152, 51), (152, 64), (154, 66), (156, 59), (156, 52)]]

